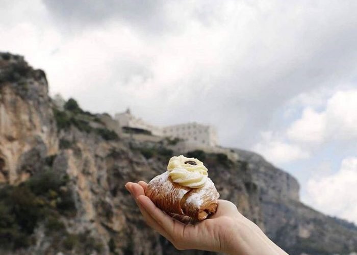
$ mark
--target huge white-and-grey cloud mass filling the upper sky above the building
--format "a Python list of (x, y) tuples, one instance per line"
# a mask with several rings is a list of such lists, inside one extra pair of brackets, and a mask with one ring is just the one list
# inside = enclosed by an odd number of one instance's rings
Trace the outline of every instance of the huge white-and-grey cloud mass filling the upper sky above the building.
[(354, 6), (44, 0), (34, 15), (20, 8), (0, 36), (46, 71), (51, 92), (87, 110), (209, 123), (222, 145), (248, 148), (291, 98), (353, 79)]

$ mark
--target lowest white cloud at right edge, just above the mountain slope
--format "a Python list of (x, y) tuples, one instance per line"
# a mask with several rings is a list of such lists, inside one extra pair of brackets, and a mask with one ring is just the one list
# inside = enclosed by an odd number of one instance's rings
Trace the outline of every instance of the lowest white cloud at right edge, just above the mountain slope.
[(309, 180), (307, 191), (307, 202), (317, 210), (357, 224), (356, 157), (344, 159), (336, 173)]

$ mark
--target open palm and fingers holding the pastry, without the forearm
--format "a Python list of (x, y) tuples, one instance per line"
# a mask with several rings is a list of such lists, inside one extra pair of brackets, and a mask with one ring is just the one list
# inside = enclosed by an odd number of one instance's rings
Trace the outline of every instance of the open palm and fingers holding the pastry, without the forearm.
[(226, 240), (236, 234), (232, 225), (236, 223), (233, 218), (237, 218), (238, 211), (232, 202), (218, 200), (217, 212), (211, 218), (195, 225), (183, 224), (165, 214), (145, 196), (146, 186), (143, 181), (125, 185), (135, 198), (147, 224), (168, 239), (177, 249), (224, 251), (227, 248)]

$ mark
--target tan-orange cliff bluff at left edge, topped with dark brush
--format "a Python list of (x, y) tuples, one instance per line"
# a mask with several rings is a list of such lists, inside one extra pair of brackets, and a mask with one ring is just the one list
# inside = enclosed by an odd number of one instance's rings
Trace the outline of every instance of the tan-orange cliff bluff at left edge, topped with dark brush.
[(42, 70), (0, 57), (0, 182), (19, 183), (57, 151), (56, 124)]

